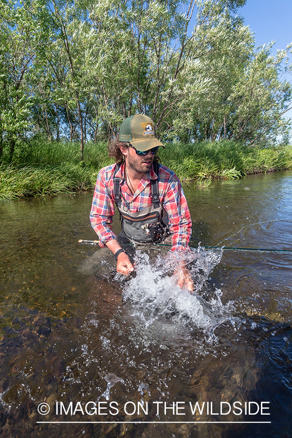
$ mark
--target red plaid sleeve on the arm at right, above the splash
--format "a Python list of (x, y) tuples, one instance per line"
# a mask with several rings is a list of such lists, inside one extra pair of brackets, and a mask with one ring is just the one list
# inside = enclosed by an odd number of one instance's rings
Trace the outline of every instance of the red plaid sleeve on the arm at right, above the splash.
[(169, 218), (172, 251), (183, 251), (188, 247), (192, 221), (183, 187), (176, 175), (173, 175), (165, 192), (164, 209)]

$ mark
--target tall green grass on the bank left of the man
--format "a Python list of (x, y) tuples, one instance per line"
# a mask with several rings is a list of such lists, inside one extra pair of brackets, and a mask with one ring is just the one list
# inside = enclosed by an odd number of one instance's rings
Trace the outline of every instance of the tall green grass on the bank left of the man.
[(0, 199), (93, 190), (99, 169), (111, 162), (104, 143), (87, 144), (82, 162), (78, 143), (19, 145), (13, 163), (0, 165)]

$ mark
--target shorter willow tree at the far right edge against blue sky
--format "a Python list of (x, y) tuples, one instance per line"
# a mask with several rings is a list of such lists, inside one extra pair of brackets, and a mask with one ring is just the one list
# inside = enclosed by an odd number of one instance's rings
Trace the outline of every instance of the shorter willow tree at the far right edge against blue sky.
[(235, 107), (233, 137), (250, 145), (273, 144), (280, 135), (289, 138), (291, 122), (282, 116), (292, 108), (292, 87), (283, 76), (292, 72), (288, 57), (292, 44), (276, 55), (272, 46), (256, 50), (229, 97)]

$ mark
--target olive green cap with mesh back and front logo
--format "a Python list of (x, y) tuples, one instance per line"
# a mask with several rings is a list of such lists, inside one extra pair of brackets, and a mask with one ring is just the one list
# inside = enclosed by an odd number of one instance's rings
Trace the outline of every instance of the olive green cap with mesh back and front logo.
[(141, 151), (155, 146), (165, 147), (156, 137), (153, 121), (144, 114), (135, 114), (125, 119), (120, 127), (119, 139), (120, 142), (130, 142)]

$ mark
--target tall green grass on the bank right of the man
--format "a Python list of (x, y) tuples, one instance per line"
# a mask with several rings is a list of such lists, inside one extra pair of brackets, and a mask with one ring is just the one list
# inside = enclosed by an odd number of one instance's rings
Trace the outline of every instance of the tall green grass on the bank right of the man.
[(292, 146), (257, 148), (233, 141), (172, 144), (161, 148), (159, 155), (182, 180), (230, 179), (292, 169)]

